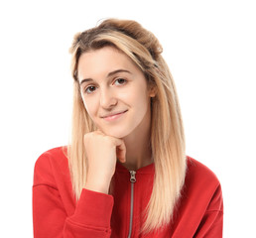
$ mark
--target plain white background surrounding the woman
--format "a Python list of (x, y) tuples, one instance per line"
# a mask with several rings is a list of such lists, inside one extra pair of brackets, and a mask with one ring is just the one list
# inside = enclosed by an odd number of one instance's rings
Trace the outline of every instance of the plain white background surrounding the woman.
[(102, 18), (134, 19), (164, 47), (187, 154), (222, 184), (224, 237), (256, 237), (254, 1), (1, 1), (1, 237), (33, 237), (37, 158), (65, 145), (76, 32)]

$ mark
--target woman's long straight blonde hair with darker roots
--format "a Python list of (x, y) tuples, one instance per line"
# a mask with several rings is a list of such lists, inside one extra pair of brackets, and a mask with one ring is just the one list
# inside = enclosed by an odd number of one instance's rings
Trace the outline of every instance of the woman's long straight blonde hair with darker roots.
[(155, 178), (141, 232), (168, 225), (181, 196), (186, 176), (185, 135), (175, 83), (157, 38), (135, 21), (108, 19), (99, 26), (74, 36), (70, 53), (74, 78), (71, 145), (68, 161), (73, 190), (78, 199), (86, 180), (87, 161), (83, 136), (95, 130), (79, 91), (77, 64), (86, 52), (113, 46), (126, 54), (157, 89), (152, 98), (151, 147)]

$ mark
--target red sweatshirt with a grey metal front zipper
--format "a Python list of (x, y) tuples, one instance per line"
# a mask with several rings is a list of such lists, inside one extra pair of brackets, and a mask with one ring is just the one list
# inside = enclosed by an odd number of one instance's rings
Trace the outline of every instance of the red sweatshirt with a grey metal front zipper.
[[(223, 203), (219, 181), (190, 157), (173, 223), (155, 234), (140, 235), (154, 172), (154, 164), (130, 173), (117, 163), (112, 195), (83, 189), (76, 202), (63, 149), (44, 153), (36, 162), (34, 174), (35, 238), (222, 237)], [(131, 181), (133, 179), (136, 181)]]

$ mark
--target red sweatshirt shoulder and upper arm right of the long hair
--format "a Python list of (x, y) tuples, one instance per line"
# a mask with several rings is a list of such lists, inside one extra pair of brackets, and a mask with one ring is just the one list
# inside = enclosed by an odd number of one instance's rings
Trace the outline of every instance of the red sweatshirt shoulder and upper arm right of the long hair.
[(219, 180), (206, 166), (187, 157), (187, 175), (176, 216), (176, 237), (221, 237), (223, 199)]

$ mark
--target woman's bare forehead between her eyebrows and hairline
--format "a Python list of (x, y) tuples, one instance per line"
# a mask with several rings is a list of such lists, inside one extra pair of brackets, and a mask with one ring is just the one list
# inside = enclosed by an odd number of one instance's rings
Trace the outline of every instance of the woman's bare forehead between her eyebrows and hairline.
[(117, 69), (129, 71), (140, 70), (138, 66), (121, 51), (113, 47), (84, 53), (78, 60), (77, 72), (79, 81), (83, 78), (96, 78), (107, 75)]

